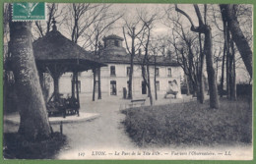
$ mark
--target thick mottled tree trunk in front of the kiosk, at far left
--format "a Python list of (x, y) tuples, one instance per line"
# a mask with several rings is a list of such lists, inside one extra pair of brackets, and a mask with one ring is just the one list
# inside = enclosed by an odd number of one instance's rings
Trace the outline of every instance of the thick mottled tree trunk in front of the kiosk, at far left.
[(20, 101), (19, 133), (27, 139), (49, 137), (50, 126), (32, 52), (32, 23), (10, 22), (10, 39)]

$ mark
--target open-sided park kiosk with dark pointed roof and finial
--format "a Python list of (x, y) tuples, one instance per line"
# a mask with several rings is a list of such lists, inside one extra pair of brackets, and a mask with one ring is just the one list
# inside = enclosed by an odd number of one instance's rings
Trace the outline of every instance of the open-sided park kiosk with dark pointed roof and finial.
[[(53, 20), (52, 30), (33, 42), (33, 54), (41, 84), (44, 81), (43, 73), (49, 73), (54, 83), (54, 91), (47, 100), (47, 111), (49, 116), (79, 116), (78, 73), (106, 65), (98, 62), (93, 54), (62, 35), (55, 23)], [(59, 79), (67, 72), (73, 73), (72, 95), (63, 98), (59, 92)]]

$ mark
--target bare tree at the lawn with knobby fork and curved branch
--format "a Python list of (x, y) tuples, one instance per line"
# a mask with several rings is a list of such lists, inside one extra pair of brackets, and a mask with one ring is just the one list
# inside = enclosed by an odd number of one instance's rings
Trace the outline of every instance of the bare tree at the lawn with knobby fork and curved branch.
[[(210, 91), (210, 107), (211, 108), (219, 108), (219, 97), (217, 90), (217, 82), (215, 76), (215, 69), (213, 67), (213, 52), (212, 52), (212, 31), (211, 27), (207, 25), (207, 23), (203, 22), (201, 12), (199, 10), (198, 5), (194, 5), (194, 9), (198, 18), (199, 27), (195, 27), (190, 16), (185, 13), (183, 10), (179, 9), (177, 5), (175, 5), (175, 10), (185, 16), (191, 24), (191, 30), (195, 32), (200, 32), (205, 34), (204, 41), (204, 54), (206, 55), (206, 63), (207, 63), (207, 73), (208, 73), (208, 82), (209, 82), (209, 91)], [(205, 7), (205, 9), (207, 9)], [(207, 10), (205, 10), (205, 13)], [(205, 15), (206, 16), (206, 15)], [(205, 19), (206, 21), (206, 19)]]

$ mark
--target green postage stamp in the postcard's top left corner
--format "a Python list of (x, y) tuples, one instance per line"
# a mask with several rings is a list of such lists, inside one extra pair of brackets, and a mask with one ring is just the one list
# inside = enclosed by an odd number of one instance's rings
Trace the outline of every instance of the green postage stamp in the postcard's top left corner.
[(14, 22), (20, 21), (45, 21), (45, 3), (44, 2), (20, 2), (13, 3)]

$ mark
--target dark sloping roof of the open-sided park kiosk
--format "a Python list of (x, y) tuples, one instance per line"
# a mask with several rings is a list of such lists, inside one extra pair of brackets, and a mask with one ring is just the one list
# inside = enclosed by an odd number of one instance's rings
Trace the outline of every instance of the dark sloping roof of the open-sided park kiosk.
[[(49, 31), (43, 37), (33, 42), (33, 54), (36, 65), (58, 63), (67, 66), (67, 72), (72, 70), (86, 71), (104, 66), (94, 55), (63, 36), (58, 30)], [(43, 69), (43, 68), (40, 68)]]

